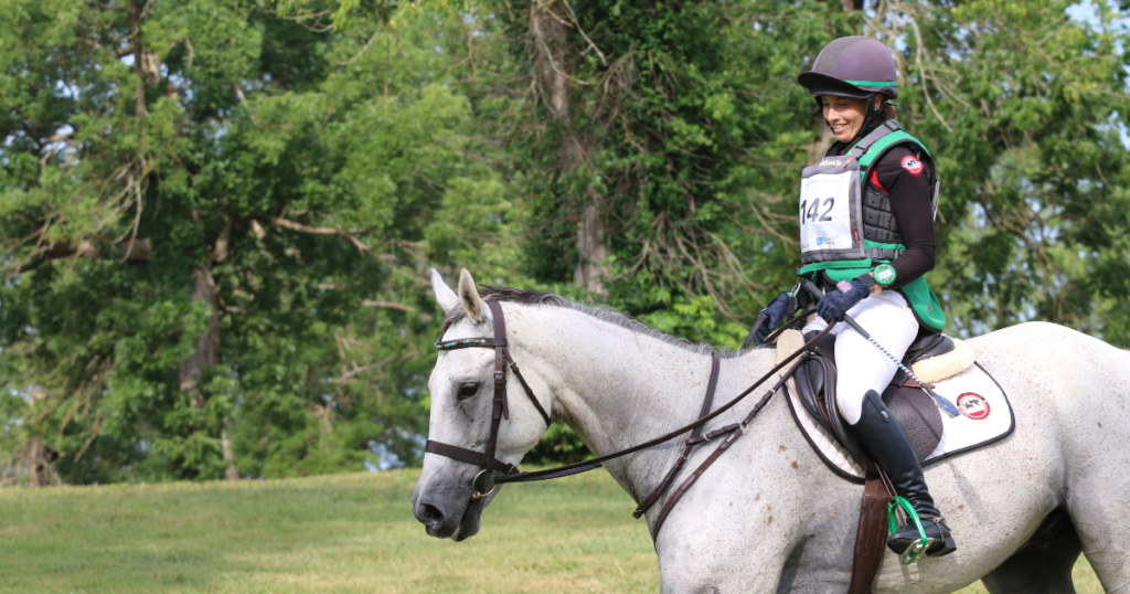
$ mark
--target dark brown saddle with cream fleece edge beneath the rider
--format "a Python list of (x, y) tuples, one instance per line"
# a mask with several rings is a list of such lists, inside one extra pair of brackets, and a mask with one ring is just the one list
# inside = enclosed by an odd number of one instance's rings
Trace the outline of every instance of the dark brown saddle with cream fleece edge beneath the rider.
[[(815, 335), (816, 333), (810, 333), (805, 338), (794, 339), (811, 339)], [(782, 335), (781, 338), (786, 336)], [(793, 375), (793, 382), (797, 397), (809, 414), (820, 427), (835, 436), (843, 448), (862, 465), (864, 460), (862, 450), (836, 405), (835, 341), (835, 336), (827, 335), (817, 343), (815, 352), (802, 355)], [(777, 348), (790, 351), (780, 339)], [(949, 336), (923, 333), (906, 350), (903, 364), (913, 369), (919, 379), (933, 388), (932, 382), (965, 371), (973, 364), (973, 353), (967, 346)], [(941, 413), (933, 399), (899, 369), (884, 390), (883, 402), (906, 431), (919, 462), (925, 460), (941, 441)]]

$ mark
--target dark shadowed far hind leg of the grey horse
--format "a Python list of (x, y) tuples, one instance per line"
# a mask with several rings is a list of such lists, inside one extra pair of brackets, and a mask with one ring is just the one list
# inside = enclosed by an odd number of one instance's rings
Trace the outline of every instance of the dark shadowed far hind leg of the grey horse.
[(981, 582), (990, 594), (1075, 594), (1071, 568), (1081, 551), (1067, 510), (1057, 508), (1019, 551)]

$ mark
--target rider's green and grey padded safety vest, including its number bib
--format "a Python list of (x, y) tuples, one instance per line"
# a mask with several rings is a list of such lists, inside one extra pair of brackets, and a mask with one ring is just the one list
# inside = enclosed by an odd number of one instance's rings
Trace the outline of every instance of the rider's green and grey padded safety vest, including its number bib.
[[(888, 149), (914, 144), (929, 156), (922, 143), (888, 120), (844, 155), (825, 155), (805, 167), (800, 192), (800, 251), (803, 265), (797, 274), (815, 278), (823, 272), (833, 282), (852, 279), (889, 262), (906, 250), (890, 196), (868, 184), (871, 167)], [(933, 182), (931, 208), (937, 216), (940, 180)], [(935, 330), (946, 325), (938, 296), (919, 277), (898, 290), (906, 296), (919, 321)]]

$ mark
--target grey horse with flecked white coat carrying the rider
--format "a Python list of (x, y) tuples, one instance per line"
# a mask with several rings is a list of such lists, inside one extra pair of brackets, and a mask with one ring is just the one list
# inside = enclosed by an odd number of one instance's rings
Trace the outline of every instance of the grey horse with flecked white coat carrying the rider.
[[(490, 312), (467, 270), (458, 294), (434, 270), (433, 286), (447, 312), (445, 339), (493, 336)], [(502, 296), (510, 351), (533, 393), (598, 456), (696, 417), (709, 350), (557, 295)], [(1074, 592), (1071, 568), (1083, 552), (1106, 592), (1130, 593), (1130, 354), (1040, 322), (967, 344), (1011, 398), (1016, 431), (928, 467), (959, 549), (913, 566), (886, 554), (876, 592), (944, 593), (976, 579), (993, 594)], [(775, 360), (773, 348), (728, 355), (714, 402), (729, 401)], [(484, 448), (493, 370), (488, 348), (440, 354), (429, 379), (429, 439)], [(468, 386), (479, 388), (468, 395)], [(710, 427), (739, 421), (751, 401)], [(511, 397), (510, 407), (498, 458), (518, 464), (546, 425), (524, 397)], [(638, 501), (675, 463), (677, 442), (606, 467)], [(688, 468), (711, 449), (698, 448)], [(478, 532), (483, 509), (498, 493), (472, 501), (479, 470), (424, 457), (412, 509), (428, 534), (459, 541)], [(661, 591), (844, 592), (861, 493), (862, 487), (828, 471), (775, 397), (667, 518), (655, 542)], [(660, 507), (646, 515), (652, 525)]]

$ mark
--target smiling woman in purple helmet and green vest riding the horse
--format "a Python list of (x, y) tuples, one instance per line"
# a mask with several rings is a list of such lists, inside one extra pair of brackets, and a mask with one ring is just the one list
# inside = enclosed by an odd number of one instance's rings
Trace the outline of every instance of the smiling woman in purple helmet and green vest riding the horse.
[[(938, 175), (930, 153), (895, 121), (898, 71), (883, 43), (841, 37), (798, 77), (820, 105), (836, 141), (801, 180), (798, 275), (826, 295), (803, 332), (823, 330), (849, 315), (897, 359), (923, 333), (939, 333), (946, 317), (925, 281), (935, 266), (933, 218)], [(799, 291), (794, 291), (799, 293)], [(759, 344), (794, 310), (801, 295), (781, 293), (765, 308)], [(914, 449), (880, 394), (897, 369), (847, 325), (836, 325), (840, 412), (897, 494), (914, 507), (925, 531), (925, 554), (956, 549), (927, 489)], [(921, 542), (909, 523), (887, 540), (896, 554)]]

